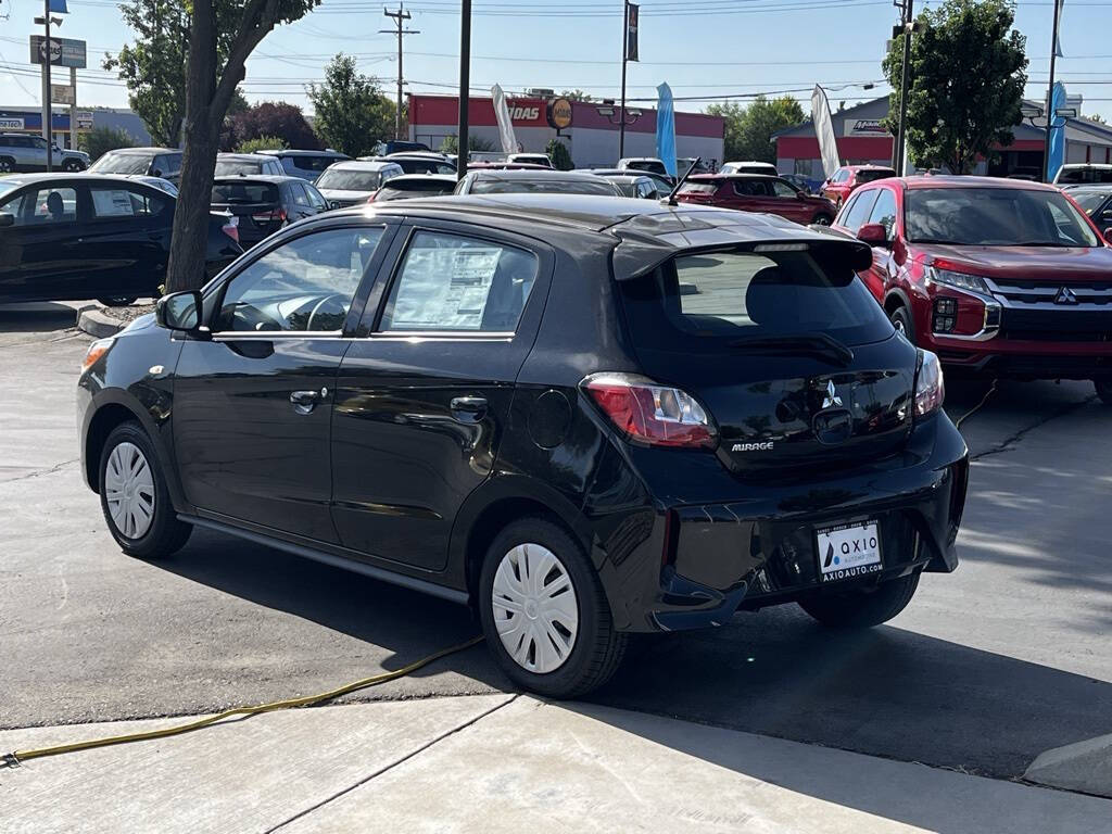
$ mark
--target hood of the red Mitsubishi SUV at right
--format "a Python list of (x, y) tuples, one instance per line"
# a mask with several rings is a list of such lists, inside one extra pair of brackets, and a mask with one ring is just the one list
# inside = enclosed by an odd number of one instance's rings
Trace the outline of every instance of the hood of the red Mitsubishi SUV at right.
[(994, 279), (1112, 279), (1112, 249), (1106, 246), (917, 246), (915, 259)]

